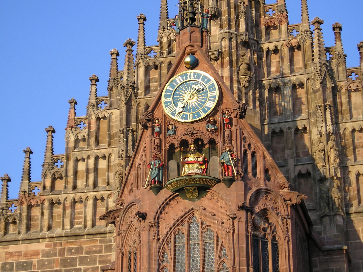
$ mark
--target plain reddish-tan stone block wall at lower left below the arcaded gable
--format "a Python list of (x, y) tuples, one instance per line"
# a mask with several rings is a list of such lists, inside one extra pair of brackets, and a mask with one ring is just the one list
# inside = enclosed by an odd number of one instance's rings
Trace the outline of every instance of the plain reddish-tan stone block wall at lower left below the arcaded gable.
[(110, 233), (41, 240), (0, 243), (0, 271), (99, 272), (114, 260)]

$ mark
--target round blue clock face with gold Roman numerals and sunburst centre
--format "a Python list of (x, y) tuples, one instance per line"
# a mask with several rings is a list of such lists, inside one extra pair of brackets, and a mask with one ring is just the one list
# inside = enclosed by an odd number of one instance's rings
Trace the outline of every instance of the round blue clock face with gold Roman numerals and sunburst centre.
[(216, 106), (219, 90), (207, 73), (190, 70), (173, 77), (162, 95), (164, 111), (172, 119), (193, 122), (203, 119)]

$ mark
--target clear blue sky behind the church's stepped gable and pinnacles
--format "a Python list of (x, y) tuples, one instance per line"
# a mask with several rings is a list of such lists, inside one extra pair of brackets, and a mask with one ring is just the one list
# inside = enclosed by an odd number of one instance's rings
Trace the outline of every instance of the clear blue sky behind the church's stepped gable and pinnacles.
[[(169, 17), (177, 0), (169, 0)], [(136, 4), (135, 4), (136, 3)], [(276, 3), (266, 0), (266, 4)], [(346, 5), (343, 3), (347, 3)], [(334, 46), (331, 25), (342, 24), (347, 66), (359, 66), (356, 45), (363, 40), (363, 1), (308, 0), (310, 20), (324, 20), (325, 46)], [(286, 0), (289, 22), (300, 22), (300, 1)], [(9, 174), (9, 198), (17, 198), (24, 161), (30, 147), (32, 181), (41, 180), (46, 132), (52, 125), (54, 153), (65, 149), (68, 100), (74, 97), (77, 116), (86, 113), (89, 77), (99, 78), (98, 95), (106, 95), (109, 51), (120, 52), (123, 42), (137, 40), (136, 16), (144, 13), (146, 44), (156, 44), (160, 0), (2, 0), (0, 1), (0, 176)], [(136, 49), (136, 47), (135, 47)]]

